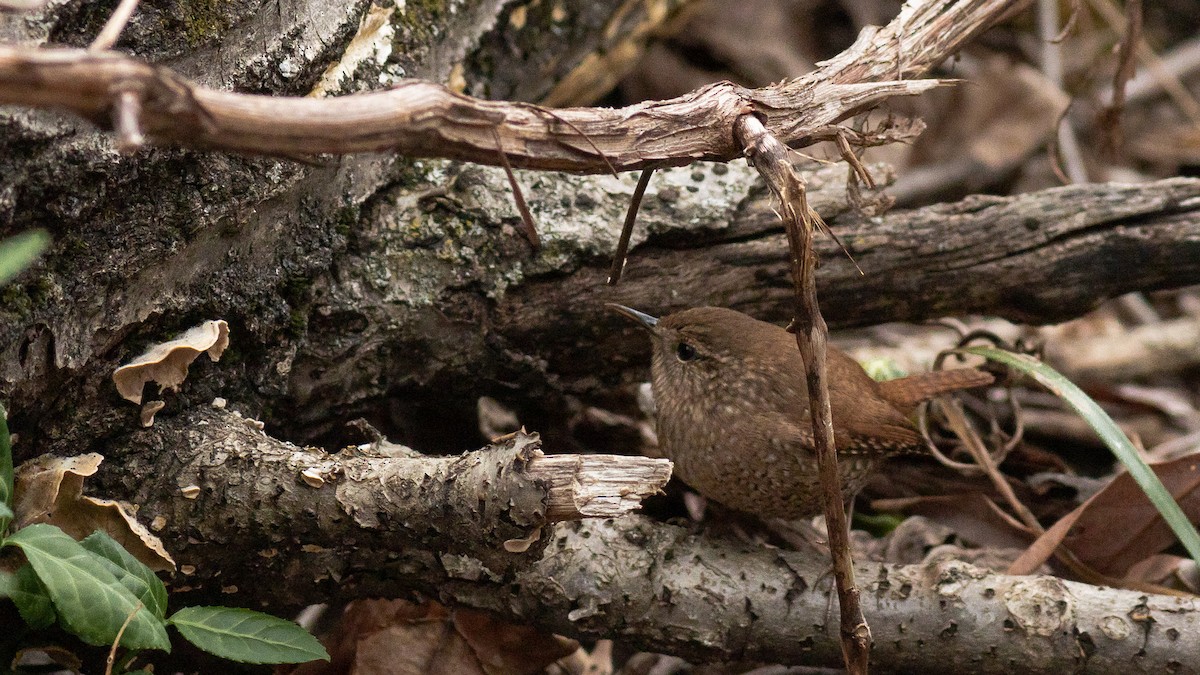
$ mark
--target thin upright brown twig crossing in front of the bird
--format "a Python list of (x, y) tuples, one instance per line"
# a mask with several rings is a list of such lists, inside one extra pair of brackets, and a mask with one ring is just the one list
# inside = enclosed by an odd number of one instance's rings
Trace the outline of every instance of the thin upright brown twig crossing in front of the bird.
[(743, 115), (734, 123), (733, 132), (744, 148), (746, 159), (754, 162), (755, 168), (779, 198), (780, 217), (787, 229), (792, 281), (796, 287), (796, 344), (808, 375), (812, 443), (821, 472), (829, 552), (833, 557), (833, 574), (841, 614), (841, 655), (846, 670), (852, 674), (865, 674), (871, 653), (871, 629), (863, 619), (858, 587), (854, 585), (854, 561), (850, 552), (846, 502), (841, 494), (841, 477), (834, 452), (833, 413), (829, 407), (829, 382), (826, 372), (828, 329), (817, 305), (814, 274), (816, 252), (812, 247), (812, 231), (821, 216), (809, 208), (804, 184), (788, 161), (787, 147), (768, 132), (758, 118), (754, 114)]

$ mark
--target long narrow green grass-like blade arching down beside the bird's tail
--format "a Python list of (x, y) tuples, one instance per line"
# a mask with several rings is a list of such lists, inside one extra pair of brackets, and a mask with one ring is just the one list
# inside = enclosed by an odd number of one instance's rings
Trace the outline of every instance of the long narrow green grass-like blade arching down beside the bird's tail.
[(1074, 408), (1096, 430), (1100, 440), (1104, 441), (1104, 444), (1121, 460), (1126, 471), (1129, 472), (1129, 477), (1146, 492), (1150, 502), (1154, 504), (1154, 508), (1162, 514), (1163, 520), (1175, 532), (1175, 536), (1180, 538), (1180, 542), (1188, 550), (1188, 554), (1192, 555), (1192, 558), (1200, 562), (1200, 533), (1196, 532), (1195, 526), (1183, 514), (1183, 509), (1171, 497), (1171, 494), (1166, 491), (1166, 488), (1163, 486), (1162, 480), (1150, 468), (1150, 465), (1141, 459), (1141, 455), (1138, 454), (1138, 450), (1129, 442), (1129, 438), (1126, 437), (1124, 432), (1121, 431), (1121, 428), (1082, 389), (1055, 369), (1028, 354), (1018, 354), (995, 347), (966, 347), (956, 351), (984, 357), (1024, 372), (1037, 381), (1038, 384), (1042, 384), (1067, 401), (1067, 405)]

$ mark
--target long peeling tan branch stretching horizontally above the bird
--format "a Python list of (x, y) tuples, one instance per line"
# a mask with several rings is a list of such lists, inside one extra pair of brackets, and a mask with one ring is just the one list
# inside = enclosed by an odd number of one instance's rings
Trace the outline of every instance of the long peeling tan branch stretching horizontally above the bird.
[[(775, 137), (798, 147), (815, 129), (888, 97), (937, 86), (936, 80), (890, 78), (919, 77), (1020, 5), (912, 1), (888, 26), (864, 30), (850, 49), (804, 77), (762, 89), (718, 83), (619, 109), (550, 113), (422, 80), (336, 100), (256, 96), (203, 88), (120, 54), (24, 47), (0, 47), (0, 103), (65, 108), (108, 126), (114, 91), (136, 84), (144, 92), (146, 137), (190, 148), (282, 156), (392, 150), (496, 166), (491, 132), (497, 129), (517, 168), (600, 173), (683, 166), (739, 157), (730, 130), (750, 108)], [(905, 53), (898, 65), (899, 35)]]

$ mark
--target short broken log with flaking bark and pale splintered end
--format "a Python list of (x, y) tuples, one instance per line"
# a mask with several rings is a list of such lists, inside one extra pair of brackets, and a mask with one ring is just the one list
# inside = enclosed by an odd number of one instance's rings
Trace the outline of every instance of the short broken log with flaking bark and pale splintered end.
[(540, 444), (517, 434), (457, 458), (328, 454), (198, 407), (132, 434), (97, 488), (139, 504), (178, 551), (188, 574), (176, 590), (295, 609), (314, 592), (394, 593), (409, 558), (504, 578), (541, 554), (553, 522), (624, 515), (671, 476), (664, 459), (547, 456)]

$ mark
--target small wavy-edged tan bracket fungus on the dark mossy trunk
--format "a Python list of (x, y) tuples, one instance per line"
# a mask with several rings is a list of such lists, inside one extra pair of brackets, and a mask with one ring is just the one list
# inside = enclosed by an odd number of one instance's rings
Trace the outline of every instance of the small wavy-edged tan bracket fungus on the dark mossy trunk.
[(187, 378), (187, 366), (196, 357), (208, 352), (209, 358), (218, 362), (228, 346), (229, 324), (223, 319), (205, 321), (118, 368), (113, 371), (113, 382), (121, 396), (140, 405), (142, 388), (146, 382), (157, 382), (162, 390), (179, 389)]

